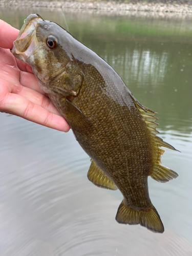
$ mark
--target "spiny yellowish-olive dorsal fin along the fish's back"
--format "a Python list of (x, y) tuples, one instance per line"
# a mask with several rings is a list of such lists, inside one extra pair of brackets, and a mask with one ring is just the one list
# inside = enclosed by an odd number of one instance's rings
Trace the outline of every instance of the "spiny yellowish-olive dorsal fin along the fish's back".
[[(136, 104), (137, 104), (137, 102), (136, 102)], [(178, 174), (176, 172), (174, 172), (173, 170), (171, 170), (161, 164), (161, 155), (163, 155), (163, 153), (164, 153), (164, 150), (161, 147), (164, 146), (164, 147), (169, 148), (170, 150), (176, 150), (176, 149), (172, 145), (166, 143), (161, 138), (156, 136), (156, 134), (159, 132), (156, 131), (156, 127), (157, 127), (158, 123), (155, 122), (157, 120), (157, 118), (154, 117), (154, 115), (157, 113), (148, 108), (145, 108), (145, 106), (142, 106), (142, 108), (140, 108), (140, 105), (137, 104), (137, 107), (138, 107), (138, 110), (139, 110), (141, 116), (143, 117), (148, 129), (150, 130), (152, 138), (153, 138), (153, 150), (155, 152), (155, 154), (154, 154), (155, 159), (154, 159), (153, 170), (151, 171), (151, 173), (149, 175), (154, 180), (157, 180), (159, 182), (167, 182), (169, 180), (177, 178)], [(143, 110), (143, 108), (146, 112)]]

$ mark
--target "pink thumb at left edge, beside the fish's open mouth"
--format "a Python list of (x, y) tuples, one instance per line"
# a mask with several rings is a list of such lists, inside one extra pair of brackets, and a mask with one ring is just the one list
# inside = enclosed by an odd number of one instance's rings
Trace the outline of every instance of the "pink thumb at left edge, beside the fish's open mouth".
[(5, 49), (13, 48), (13, 41), (16, 39), (19, 30), (13, 28), (4, 20), (0, 19), (0, 47)]

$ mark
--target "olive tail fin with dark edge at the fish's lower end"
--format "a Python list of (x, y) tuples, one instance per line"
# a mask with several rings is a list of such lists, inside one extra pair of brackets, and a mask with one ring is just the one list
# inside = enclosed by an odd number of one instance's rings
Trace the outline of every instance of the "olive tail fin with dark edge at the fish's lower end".
[(148, 209), (134, 210), (122, 201), (117, 211), (116, 221), (122, 224), (140, 224), (155, 233), (164, 232), (163, 223), (153, 204)]

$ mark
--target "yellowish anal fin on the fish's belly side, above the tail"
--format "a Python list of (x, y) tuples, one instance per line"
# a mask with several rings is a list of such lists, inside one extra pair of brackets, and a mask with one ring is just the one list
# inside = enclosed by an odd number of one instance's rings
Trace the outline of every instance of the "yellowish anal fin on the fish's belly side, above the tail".
[(117, 186), (115, 183), (103, 172), (95, 161), (91, 161), (92, 163), (89, 168), (88, 179), (98, 187), (116, 190)]

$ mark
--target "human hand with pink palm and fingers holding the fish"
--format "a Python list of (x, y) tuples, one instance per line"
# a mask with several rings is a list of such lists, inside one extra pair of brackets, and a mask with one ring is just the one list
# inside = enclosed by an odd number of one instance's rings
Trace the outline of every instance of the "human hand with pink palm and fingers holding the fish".
[(32, 68), (10, 52), (18, 32), (0, 19), (0, 112), (68, 132), (68, 123), (40, 90)]

